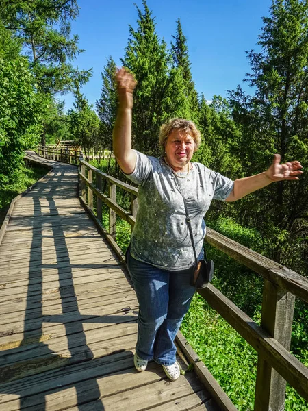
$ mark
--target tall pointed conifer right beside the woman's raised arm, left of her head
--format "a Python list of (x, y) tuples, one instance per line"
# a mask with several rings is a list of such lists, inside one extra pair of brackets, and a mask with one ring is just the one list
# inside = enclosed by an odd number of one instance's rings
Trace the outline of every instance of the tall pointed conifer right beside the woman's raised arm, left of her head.
[(149, 155), (159, 153), (159, 127), (170, 116), (166, 42), (156, 33), (154, 18), (143, 0), (137, 6), (138, 27), (129, 27), (130, 38), (122, 62), (138, 82), (133, 101), (133, 146)]

